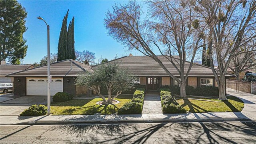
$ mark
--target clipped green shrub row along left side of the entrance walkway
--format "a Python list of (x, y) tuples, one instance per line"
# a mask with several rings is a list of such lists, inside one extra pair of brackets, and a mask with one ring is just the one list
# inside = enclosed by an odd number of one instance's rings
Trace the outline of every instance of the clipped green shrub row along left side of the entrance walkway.
[(141, 114), (144, 104), (145, 89), (137, 88), (133, 94), (131, 102), (126, 102), (122, 108), (119, 108), (118, 114)]

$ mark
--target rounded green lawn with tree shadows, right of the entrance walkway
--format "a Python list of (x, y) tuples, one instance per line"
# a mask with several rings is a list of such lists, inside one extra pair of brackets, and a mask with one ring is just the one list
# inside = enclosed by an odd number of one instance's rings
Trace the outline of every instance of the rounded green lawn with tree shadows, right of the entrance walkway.
[[(190, 98), (190, 97), (189, 97)], [(202, 100), (179, 99), (177, 102), (189, 112), (240, 112), (244, 108), (244, 102), (234, 96), (227, 97), (228, 100), (197, 98)], [(212, 100), (214, 102), (204, 101)]]

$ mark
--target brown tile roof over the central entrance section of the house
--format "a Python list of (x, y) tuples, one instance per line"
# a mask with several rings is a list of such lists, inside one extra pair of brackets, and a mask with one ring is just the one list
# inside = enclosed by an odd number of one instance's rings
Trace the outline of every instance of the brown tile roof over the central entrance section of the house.
[[(167, 60), (164, 56), (158, 56), (162, 61), (164, 66), (171, 72), (174, 76), (180, 76), (178, 71), (174, 68), (171, 62)], [(177, 67), (179, 64), (178, 58), (172, 58)], [(134, 76), (169, 76), (164, 69), (158, 64), (153, 58), (149, 56), (124, 56), (116, 60), (109, 62), (117, 62), (122, 68), (127, 68), (129, 72), (134, 74)], [(190, 62), (185, 62), (185, 72), (187, 72)], [(98, 65), (92, 66), (92, 68), (97, 68)], [(214, 76), (212, 69), (200, 64), (193, 64), (189, 76)], [(231, 74), (226, 74), (226, 76), (233, 76)]]

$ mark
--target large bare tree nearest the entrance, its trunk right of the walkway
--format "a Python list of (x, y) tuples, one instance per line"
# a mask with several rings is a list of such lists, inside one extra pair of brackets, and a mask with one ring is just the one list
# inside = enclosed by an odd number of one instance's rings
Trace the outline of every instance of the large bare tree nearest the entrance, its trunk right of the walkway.
[[(180, 96), (185, 97), (186, 79), (202, 40), (200, 22), (195, 22), (194, 28), (191, 26), (195, 19), (189, 3), (182, 5), (181, 1), (152, 0), (146, 4), (150, 14), (148, 20), (141, 20), (142, 7), (136, 1), (114, 5), (113, 12), (108, 11), (104, 20), (108, 34), (130, 50), (136, 49), (156, 60), (180, 84)], [(180, 79), (166, 68), (156, 56), (156, 51), (175, 67)], [(191, 62), (185, 68), (186, 51), (191, 54)], [(173, 54), (178, 54), (179, 59), (173, 58)]]

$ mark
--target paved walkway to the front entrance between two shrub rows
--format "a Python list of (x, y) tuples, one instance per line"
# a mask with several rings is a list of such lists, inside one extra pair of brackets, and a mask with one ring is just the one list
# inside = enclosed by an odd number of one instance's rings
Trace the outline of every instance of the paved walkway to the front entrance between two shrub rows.
[(162, 114), (159, 94), (146, 94), (142, 114)]

